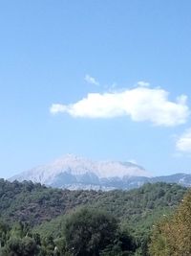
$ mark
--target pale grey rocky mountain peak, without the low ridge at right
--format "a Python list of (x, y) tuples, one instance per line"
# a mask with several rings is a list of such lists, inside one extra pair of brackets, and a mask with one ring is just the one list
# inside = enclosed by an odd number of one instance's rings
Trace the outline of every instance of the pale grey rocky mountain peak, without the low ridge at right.
[(107, 190), (113, 187), (114, 182), (133, 176), (148, 177), (150, 175), (135, 163), (93, 161), (74, 154), (66, 154), (53, 163), (32, 168), (20, 175), (11, 177), (10, 180), (32, 180), (48, 186), (69, 189)]

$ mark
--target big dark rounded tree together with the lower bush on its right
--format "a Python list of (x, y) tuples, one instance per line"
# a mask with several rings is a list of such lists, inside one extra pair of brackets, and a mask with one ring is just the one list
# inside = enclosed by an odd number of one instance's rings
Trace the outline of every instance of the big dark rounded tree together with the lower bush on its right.
[(65, 221), (64, 235), (74, 256), (130, 255), (136, 249), (128, 231), (120, 230), (116, 218), (100, 210), (78, 209)]

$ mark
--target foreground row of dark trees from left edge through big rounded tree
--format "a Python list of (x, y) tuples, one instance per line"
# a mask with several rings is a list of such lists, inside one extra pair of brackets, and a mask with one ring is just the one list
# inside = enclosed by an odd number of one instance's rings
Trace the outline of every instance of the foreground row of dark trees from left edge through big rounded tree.
[(120, 256), (130, 255), (136, 249), (133, 238), (119, 229), (114, 217), (88, 208), (81, 208), (69, 216), (56, 239), (48, 235), (42, 239), (21, 222), (12, 227), (1, 222), (0, 232), (2, 256)]

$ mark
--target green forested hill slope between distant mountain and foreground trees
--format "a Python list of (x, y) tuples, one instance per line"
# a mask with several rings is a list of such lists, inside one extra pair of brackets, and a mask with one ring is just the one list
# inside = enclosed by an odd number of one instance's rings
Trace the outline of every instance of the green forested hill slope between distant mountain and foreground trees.
[(78, 206), (89, 205), (106, 210), (121, 221), (137, 222), (157, 212), (160, 215), (170, 211), (178, 205), (185, 191), (177, 184), (165, 183), (146, 184), (131, 191), (69, 191), (0, 179), (0, 218), (36, 225)]

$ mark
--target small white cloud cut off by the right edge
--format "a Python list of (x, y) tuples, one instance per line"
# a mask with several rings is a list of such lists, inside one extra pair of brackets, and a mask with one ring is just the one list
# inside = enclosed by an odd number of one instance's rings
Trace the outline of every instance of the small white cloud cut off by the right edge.
[(176, 148), (178, 151), (191, 153), (191, 128), (181, 134), (177, 140)]

